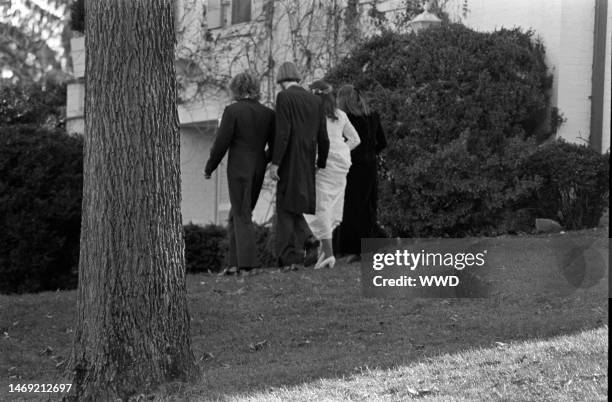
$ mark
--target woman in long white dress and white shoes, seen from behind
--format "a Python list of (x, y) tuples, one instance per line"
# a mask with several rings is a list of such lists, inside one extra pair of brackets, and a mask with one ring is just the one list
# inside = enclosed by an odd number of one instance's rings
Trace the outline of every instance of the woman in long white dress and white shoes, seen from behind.
[(351, 167), (351, 150), (360, 143), (359, 134), (346, 114), (336, 107), (332, 87), (325, 81), (315, 81), (310, 90), (321, 97), (327, 118), (329, 155), (325, 169), (316, 174), (315, 215), (304, 215), (312, 233), (321, 240), (321, 252), (315, 269), (336, 263), (332, 246), (332, 231), (342, 221), (346, 175)]

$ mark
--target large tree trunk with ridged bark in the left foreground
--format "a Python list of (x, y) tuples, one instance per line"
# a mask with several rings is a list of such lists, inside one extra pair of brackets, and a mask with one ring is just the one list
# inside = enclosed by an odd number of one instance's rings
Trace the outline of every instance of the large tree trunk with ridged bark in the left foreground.
[(78, 400), (196, 371), (186, 304), (172, 0), (87, 1)]

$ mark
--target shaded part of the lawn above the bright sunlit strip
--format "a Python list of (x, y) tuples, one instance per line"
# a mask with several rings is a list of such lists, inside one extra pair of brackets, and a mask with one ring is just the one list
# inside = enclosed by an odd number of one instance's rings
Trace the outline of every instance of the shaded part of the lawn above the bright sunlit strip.
[[(567, 236), (592, 239), (607, 261), (607, 233)], [(356, 264), (245, 278), (190, 275), (193, 348), (202, 378), (169, 384), (158, 396), (218, 399), (265, 392), (608, 323), (607, 269), (604, 277), (587, 271), (599, 277), (593, 286), (570, 283), (559, 292), (534, 284), (562, 272), (541, 264), (536, 245), (521, 247), (508, 248), (515, 258), (508, 261), (507, 277), (497, 278), (499, 291), (486, 299), (364, 298)], [(57, 378), (72, 342), (75, 297), (0, 296), (0, 400), (10, 400), (3, 394), (9, 383)]]

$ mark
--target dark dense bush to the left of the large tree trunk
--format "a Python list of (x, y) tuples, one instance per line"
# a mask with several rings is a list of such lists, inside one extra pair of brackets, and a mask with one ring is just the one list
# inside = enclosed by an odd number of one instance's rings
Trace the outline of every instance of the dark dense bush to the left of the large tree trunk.
[(76, 286), (83, 140), (0, 126), (0, 292)]

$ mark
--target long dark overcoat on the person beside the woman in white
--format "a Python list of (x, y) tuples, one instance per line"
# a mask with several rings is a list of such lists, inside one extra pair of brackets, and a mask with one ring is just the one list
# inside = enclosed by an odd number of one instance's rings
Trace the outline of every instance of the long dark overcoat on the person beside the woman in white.
[(316, 167), (329, 152), (321, 99), (293, 85), (276, 97), (276, 138), (272, 163), (279, 166), (276, 202), (296, 214), (314, 214)]

